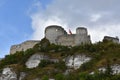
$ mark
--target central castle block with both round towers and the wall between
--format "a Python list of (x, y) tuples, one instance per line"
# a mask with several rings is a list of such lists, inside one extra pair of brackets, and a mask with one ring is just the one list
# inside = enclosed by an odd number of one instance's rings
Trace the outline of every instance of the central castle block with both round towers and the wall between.
[(45, 29), (45, 37), (50, 43), (64, 46), (76, 46), (91, 43), (87, 29), (84, 27), (78, 27), (76, 29), (76, 34), (67, 34), (61, 26), (48, 26)]

